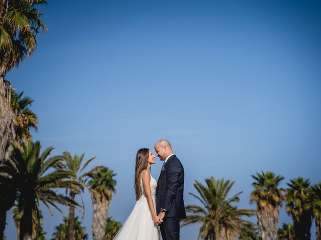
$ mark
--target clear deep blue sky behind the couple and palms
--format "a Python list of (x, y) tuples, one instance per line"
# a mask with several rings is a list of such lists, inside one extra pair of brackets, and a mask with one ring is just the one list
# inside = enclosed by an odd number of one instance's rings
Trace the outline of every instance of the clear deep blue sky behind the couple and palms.
[[(235, 180), (239, 206), (253, 208), (256, 171), (282, 174), (282, 186), (321, 180), (320, 1), (52, 0), (42, 11), (48, 32), (6, 78), (35, 99), (43, 148), (86, 152), (97, 156), (90, 167), (117, 173), (114, 219), (135, 203), (137, 149), (160, 138), (184, 164), (186, 204), (197, 203), (194, 179), (212, 175)], [(156, 179), (161, 165), (157, 158)], [(92, 239), (87, 191), (83, 198)], [(50, 238), (62, 214), (42, 209)], [(280, 224), (288, 221), (282, 210)], [(181, 229), (181, 239), (197, 235), (198, 225)]]

